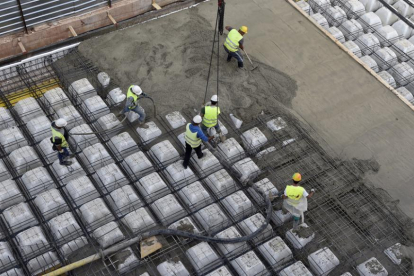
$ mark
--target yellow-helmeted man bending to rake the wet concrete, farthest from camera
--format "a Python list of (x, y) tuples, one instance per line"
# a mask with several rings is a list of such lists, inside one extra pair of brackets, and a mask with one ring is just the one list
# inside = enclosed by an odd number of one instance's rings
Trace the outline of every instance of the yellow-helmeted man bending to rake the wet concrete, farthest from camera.
[(247, 27), (241, 26), (239, 30), (233, 29), (230, 26), (226, 26), (226, 30), (229, 31), (226, 41), (224, 42), (224, 50), (226, 50), (227, 62), (230, 62), (231, 58), (236, 58), (239, 68), (243, 68), (243, 57), (240, 54), (239, 48), (244, 50), (243, 36), (247, 34)]

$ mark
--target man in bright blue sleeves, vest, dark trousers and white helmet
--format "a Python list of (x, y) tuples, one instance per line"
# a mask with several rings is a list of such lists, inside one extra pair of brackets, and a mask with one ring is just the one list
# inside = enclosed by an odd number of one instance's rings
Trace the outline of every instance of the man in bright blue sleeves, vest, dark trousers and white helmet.
[(200, 115), (196, 115), (193, 118), (191, 124), (187, 124), (185, 130), (185, 156), (183, 166), (187, 169), (188, 162), (190, 161), (191, 152), (195, 150), (198, 159), (203, 158), (203, 152), (201, 151), (201, 141), (208, 142), (213, 137), (207, 137), (204, 135), (200, 128), (202, 118)]

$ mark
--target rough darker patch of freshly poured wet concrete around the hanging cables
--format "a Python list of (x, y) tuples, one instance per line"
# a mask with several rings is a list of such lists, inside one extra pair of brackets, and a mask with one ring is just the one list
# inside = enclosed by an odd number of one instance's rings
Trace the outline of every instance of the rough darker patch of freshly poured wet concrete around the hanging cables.
[[(79, 46), (80, 52), (125, 91), (135, 83), (150, 95), (159, 114), (199, 109), (204, 102), (214, 27), (198, 14), (198, 7), (89, 39)], [(249, 71), (237, 68), (236, 60), (227, 63), (219, 45), (219, 97), (222, 110), (248, 123), (263, 110), (273, 111), (282, 104), (290, 107), (296, 82), (288, 75), (257, 62)], [(249, 36), (245, 38), (246, 49)], [(217, 44), (216, 44), (217, 46)], [(217, 47), (213, 56), (207, 100), (217, 93)], [(152, 109), (149, 102), (144, 108)], [(149, 111), (147, 112), (150, 113)]]

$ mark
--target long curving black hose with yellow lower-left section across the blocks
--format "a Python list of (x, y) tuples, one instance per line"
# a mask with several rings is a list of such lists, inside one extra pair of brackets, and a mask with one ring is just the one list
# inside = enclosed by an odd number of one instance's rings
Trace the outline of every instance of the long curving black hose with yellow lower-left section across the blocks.
[(72, 264), (66, 265), (64, 267), (61, 267), (55, 271), (49, 272), (47, 274), (44, 274), (44, 276), (57, 276), (57, 275), (61, 275), (64, 274), (68, 271), (71, 271), (73, 269), (79, 268), (81, 266), (84, 266), (88, 263), (91, 263), (93, 261), (99, 260), (109, 254), (113, 254), (116, 253), (122, 249), (125, 249), (137, 242), (140, 242), (146, 238), (152, 237), (152, 236), (156, 236), (156, 235), (163, 235), (163, 236), (169, 236), (169, 235), (174, 235), (174, 236), (180, 236), (180, 237), (186, 237), (186, 238), (191, 238), (191, 239), (195, 239), (195, 240), (200, 240), (200, 241), (206, 241), (206, 242), (214, 242), (214, 243), (239, 243), (239, 242), (246, 242), (249, 241), (253, 238), (255, 238), (257, 235), (259, 235), (261, 232), (263, 232), (263, 230), (266, 229), (266, 227), (269, 225), (270, 219), (272, 217), (272, 203), (270, 201), (270, 199), (268, 198), (268, 195), (266, 195), (264, 192), (262, 192), (261, 190), (259, 190), (258, 188), (256, 188), (255, 186), (252, 186), (252, 188), (259, 194), (261, 194), (263, 196), (263, 198), (266, 201), (266, 219), (265, 222), (253, 233), (247, 235), (247, 236), (243, 236), (243, 237), (238, 237), (238, 238), (232, 238), (232, 239), (222, 239), (222, 238), (214, 238), (214, 237), (207, 237), (207, 236), (203, 236), (203, 235), (198, 235), (198, 234), (193, 234), (193, 233), (189, 233), (189, 232), (185, 232), (185, 231), (180, 231), (180, 230), (172, 230), (172, 229), (156, 229), (156, 230), (152, 230), (146, 233), (143, 233), (142, 235), (135, 237), (133, 239), (121, 242), (117, 245), (114, 245), (100, 253), (97, 253), (95, 255), (89, 256), (87, 258), (84, 258), (80, 261), (74, 262)]

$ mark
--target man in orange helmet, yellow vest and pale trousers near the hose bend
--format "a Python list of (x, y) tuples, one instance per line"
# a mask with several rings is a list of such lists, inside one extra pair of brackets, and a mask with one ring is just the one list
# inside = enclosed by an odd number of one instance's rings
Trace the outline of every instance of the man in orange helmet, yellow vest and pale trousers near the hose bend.
[(289, 211), (293, 216), (293, 230), (297, 231), (300, 224), (300, 217), (308, 210), (308, 198), (311, 198), (315, 193), (314, 189), (308, 193), (305, 188), (299, 186), (302, 180), (300, 173), (294, 173), (292, 176), (292, 185), (287, 185), (284, 194), (282, 195), (283, 208)]

